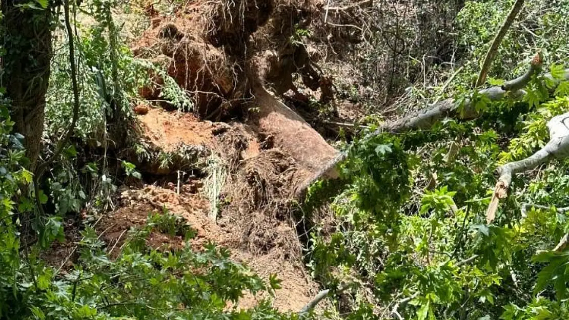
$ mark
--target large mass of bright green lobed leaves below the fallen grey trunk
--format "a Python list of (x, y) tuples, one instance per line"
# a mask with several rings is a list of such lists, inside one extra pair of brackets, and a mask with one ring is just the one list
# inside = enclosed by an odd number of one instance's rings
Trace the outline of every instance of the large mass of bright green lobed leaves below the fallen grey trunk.
[[(459, 101), (480, 105), (483, 119), (476, 122), (448, 120), (426, 132), (354, 142), (342, 168), (346, 187), (332, 201), (335, 231), (318, 228), (311, 239), (313, 274), (332, 286), (369, 285), (373, 293), (358, 295), (397, 304), (406, 319), (567, 317), (569, 259), (549, 251), (568, 230), (567, 214), (555, 209), (568, 204), (567, 161), (538, 177), (515, 178), (496, 221), (485, 223), (494, 169), (544, 146), (547, 121), (569, 111), (564, 89), (555, 90), (566, 83), (564, 68), (550, 71), (531, 80), (529, 98), (519, 103), (463, 90)], [(529, 112), (507, 119), (514, 109)], [(501, 131), (508, 121), (509, 131)], [(500, 140), (512, 131), (520, 134), (504, 151)], [(326, 185), (312, 186), (310, 194)], [(551, 209), (520, 215), (521, 202)]]

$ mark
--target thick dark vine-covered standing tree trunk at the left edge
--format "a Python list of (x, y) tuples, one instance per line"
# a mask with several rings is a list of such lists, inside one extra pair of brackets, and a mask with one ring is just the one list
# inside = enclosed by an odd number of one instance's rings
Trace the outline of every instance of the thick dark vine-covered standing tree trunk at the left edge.
[(19, 1), (2, 1), (2, 86), (11, 99), (14, 130), (25, 138), (28, 169), (38, 163), (43, 133), (44, 107), (50, 77), (51, 10), (17, 7)]

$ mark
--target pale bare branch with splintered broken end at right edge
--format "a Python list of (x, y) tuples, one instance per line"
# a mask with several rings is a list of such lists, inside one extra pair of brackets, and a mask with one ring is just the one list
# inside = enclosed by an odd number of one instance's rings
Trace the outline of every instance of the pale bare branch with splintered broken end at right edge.
[(486, 211), (486, 223), (490, 224), (496, 218), (496, 211), (501, 199), (508, 196), (508, 188), (516, 173), (531, 170), (538, 165), (556, 157), (559, 159), (569, 156), (569, 113), (551, 118), (547, 123), (549, 128), (549, 142), (539, 151), (526, 159), (510, 162), (498, 168), (500, 175), (490, 205)]

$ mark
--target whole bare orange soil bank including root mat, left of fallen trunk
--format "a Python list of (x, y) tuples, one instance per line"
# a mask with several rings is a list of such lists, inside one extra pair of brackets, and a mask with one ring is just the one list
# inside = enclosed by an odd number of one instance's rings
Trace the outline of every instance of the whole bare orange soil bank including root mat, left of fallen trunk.
[[(263, 279), (277, 274), (282, 280), (273, 302), (278, 309), (298, 311), (312, 300), (318, 285), (304, 272), (286, 194), (279, 190), (288, 174), (294, 173), (294, 162), (278, 149), (262, 149), (254, 132), (242, 124), (200, 122), (189, 114), (160, 109), (149, 109), (138, 119), (152, 144), (166, 150), (175, 150), (179, 143), (203, 144), (223, 157), (233, 174), (221, 192), (224, 204), (218, 223), (208, 217), (211, 201), (205, 196), (209, 187), (205, 179), (182, 180), (179, 194), (177, 181), (155, 182), (140, 189), (122, 187), (117, 209), (97, 226), (109, 248), (114, 247), (113, 255), (120, 251), (127, 230), (142, 226), (149, 213), (161, 213), (165, 207), (196, 231), (191, 240), (194, 250), (217, 243)], [(153, 232), (148, 244), (175, 250), (184, 246), (184, 240)], [(248, 294), (238, 306), (254, 306), (259, 298)]]

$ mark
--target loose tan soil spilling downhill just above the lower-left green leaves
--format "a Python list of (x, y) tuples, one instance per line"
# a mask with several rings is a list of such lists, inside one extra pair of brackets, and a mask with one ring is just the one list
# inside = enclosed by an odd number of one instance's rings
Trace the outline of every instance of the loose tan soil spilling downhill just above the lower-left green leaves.
[[(119, 199), (118, 210), (104, 217), (97, 230), (102, 239), (113, 248), (117, 255), (126, 240), (127, 230), (141, 227), (150, 213), (162, 213), (163, 208), (175, 215), (183, 217), (187, 224), (195, 230), (195, 238), (191, 240), (194, 250), (202, 250), (209, 242), (227, 247), (232, 252), (232, 259), (248, 265), (263, 279), (277, 273), (282, 279), (282, 289), (275, 293), (274, 306), (283, 311), (298, 311), (306, 305), (318, 292), (318, 285), (304, 274), (302, 268), (282, 259), (282, 251), (271, 251), (265, 255), (257, 255), (242, 250), (233, 240), (233, 226), (217, 225), (208, 218), (209, 202), (201, 195), (201, 187), (187, 184), (181, 187), (180, 194), (174, 188), (146, 185), (142, 189), (123, 190)], [(170, 236), (160, 232), (152, 232), (147, 244), (163, 250), (176, 250), (184, 245), (182, 236)], [(110, 249), (109, 249), (110, 250)], [(259, 298), (247, 294), (239, 306), (253, 307)]]

